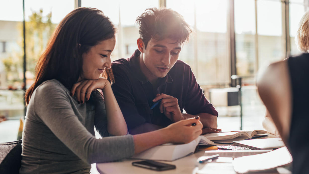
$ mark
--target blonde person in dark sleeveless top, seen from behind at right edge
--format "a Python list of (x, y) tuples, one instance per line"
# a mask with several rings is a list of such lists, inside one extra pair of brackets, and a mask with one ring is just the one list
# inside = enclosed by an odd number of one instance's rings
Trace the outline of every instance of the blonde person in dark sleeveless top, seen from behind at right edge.
[(309, 172), (309, 12), (300, 20), (295, 39), (304, 53), (270, 64), (259, 75), (257, 87), (271, 117), (267, 124), (288, 147), (292, 172), (302, 174)]

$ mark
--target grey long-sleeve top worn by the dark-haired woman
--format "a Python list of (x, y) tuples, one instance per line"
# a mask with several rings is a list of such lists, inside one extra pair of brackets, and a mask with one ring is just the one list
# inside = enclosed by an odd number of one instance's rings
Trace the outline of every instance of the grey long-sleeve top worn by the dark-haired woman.
[[(99, 92), (91, 95), (99, 96)], [(94, 126), (104, 138), (95, 138)], [(59, 81), (45, 81), (35, 89), (28, 105), (20, 173), (87, 173), (90, 163), (134, 154), (132, 135), (107, 135), (102, 98), (78, 104)]]

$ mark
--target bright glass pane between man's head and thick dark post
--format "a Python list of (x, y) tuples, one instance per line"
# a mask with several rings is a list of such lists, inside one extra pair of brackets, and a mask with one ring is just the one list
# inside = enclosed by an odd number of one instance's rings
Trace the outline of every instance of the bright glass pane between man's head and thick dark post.
[(227, 1), (196, 1), (196, 16), (198, 82), (204, 85), (227, 84), (230, 74)]

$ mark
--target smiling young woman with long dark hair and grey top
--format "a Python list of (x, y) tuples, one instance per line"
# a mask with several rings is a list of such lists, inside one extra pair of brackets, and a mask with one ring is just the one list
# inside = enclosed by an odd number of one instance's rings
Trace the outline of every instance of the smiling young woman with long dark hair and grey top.
[[(59, 23), (26, 92), (20, 173), (87, 173), (90, 163), (128, 158), (163, 143), (187, 143), (201, 134), (199, 118), (128, 134), (106, 79), (113, 79), (115, 32), (108, 17), (93, 8), (75, 9)], [(95, 138), (94, 127), (104, 138)]]

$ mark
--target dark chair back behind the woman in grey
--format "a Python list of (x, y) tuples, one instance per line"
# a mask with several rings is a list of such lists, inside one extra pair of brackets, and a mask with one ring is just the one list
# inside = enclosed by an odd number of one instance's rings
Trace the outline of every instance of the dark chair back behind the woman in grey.
[(0, 143), (0, 173), (19, 173), (21, 166), (21, 141)]

